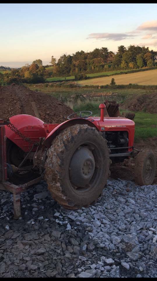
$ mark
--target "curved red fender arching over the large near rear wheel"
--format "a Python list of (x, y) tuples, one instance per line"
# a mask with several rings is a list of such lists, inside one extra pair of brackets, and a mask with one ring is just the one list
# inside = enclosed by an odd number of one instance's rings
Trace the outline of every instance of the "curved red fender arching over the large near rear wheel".
[[(93, 120), (94, 123), (90, 120)], [(50, 134), (47, 136), (47, 138), (45, 138), (44, 140), (44, 145), (47, 147), (47, 148), (50, 148), (51, 144), (52, 144), (52, 140), (57, 136), (59, 135), (60, 131), (61, 130), (64, 130), (70, 126), (73, 126), (75, 124), (87, 124), (89, 125), (90, 127), (94, 127), (96, 128), (98, 131), (99, 131), (99, 123), (98, 121), (95, 121), (94, 119), (90, 118), (89, 119), (84, 119), (84, 118), (73, 118), (73, 119), (70, 119), (70, 120), (67, 120), (61, 124), (59, 124), (56, 128), (54, 128)]]

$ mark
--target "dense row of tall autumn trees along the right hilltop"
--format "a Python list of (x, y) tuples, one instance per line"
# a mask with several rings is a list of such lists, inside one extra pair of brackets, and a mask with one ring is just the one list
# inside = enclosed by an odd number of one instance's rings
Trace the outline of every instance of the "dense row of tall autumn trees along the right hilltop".
[(94, 73), (108, 70), (135, 69), (152, 67), (155, 65), (157, 52), (149, 50), (149, 47), (121, 45), (114, 54), (108, 48), (96, 48), (92, 52), (78, 51), (73, 55), (62, 55), (56, 63), (52, 56), (51, 65), (53, 76), (75, 75), (80, 73)]

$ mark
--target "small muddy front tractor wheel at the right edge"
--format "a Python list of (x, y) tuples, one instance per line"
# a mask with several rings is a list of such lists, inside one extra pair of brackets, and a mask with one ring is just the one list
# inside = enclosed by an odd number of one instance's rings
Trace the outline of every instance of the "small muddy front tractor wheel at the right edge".
[(156, 174), (156, 156), (150, 149), (144, 149), (135, 159), (135, 182), (142, 185), (152, 184)]

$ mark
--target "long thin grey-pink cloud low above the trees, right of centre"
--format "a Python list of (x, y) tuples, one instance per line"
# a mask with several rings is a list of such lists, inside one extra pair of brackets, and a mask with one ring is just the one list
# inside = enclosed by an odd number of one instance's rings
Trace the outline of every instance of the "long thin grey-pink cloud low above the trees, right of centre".
[[(134, 35), (136, 36), (136, 35)], [(91, 33), (88, 35), (87, 39), (106, 39), (111, 41), (120, 41), (126, 39), (127, 37), (133, 37), (133, 35), (128, 35), (125, 33)]]

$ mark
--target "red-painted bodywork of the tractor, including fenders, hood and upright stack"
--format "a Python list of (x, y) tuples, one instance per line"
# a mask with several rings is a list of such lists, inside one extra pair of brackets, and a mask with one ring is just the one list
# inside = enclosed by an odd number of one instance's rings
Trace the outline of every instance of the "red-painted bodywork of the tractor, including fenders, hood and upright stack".
[[(104, 117), (105, 104), (99, 106), (101, 113), (100, 117), (89, 117), (88, 119), (73, 118), (67, 120), (61, 124), (44, 124), (44, 122), (31, 115), (16, 115), (10, 118), (10, 122), (14, 124), (18, 130), (24, 134), (24, 136), (39, 141), (39, 138), (45, 138), (44, 145), (50, 147), (52, 140), (60, 133), (61, 130), (73, 126), (75, 124), (88, 124), (91, 127), (97, 128), (99, 131), (127, 131), (129, 143), (128, 146), (133, 146), (135, 123), (127, 118), (122, 117)], [(15, 134), (7, 126), (6, 137), (12, 140), (17, 146), (19, 146), (25, 152), (29, 151), (29, 143), (24, 141), (20, 136)], [(34, 148), (33, 151), (35, 151)], [(132, 151), (132, 149), (128, 149)]]

